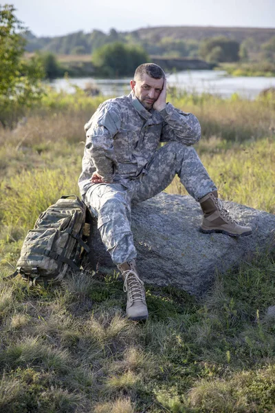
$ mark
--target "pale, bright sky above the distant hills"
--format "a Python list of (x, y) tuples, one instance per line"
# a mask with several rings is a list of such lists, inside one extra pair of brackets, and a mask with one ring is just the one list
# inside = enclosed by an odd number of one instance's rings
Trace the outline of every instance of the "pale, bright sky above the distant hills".
[[(175, 25), (275, 28), (275, 0), (4, 0), (36, 36)], [(3, 4), (2, 3), (2, 4)]]

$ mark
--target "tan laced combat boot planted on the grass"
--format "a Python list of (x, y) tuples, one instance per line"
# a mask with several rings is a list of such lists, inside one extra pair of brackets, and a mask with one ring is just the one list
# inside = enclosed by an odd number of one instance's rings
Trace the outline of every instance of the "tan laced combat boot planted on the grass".
[(123, 289), (127, 293), (127, 317), (135, 321), (148, 319), (144, 282), (137, 275), (135, 261), (118, 264), (118, 269), (122, 273)]

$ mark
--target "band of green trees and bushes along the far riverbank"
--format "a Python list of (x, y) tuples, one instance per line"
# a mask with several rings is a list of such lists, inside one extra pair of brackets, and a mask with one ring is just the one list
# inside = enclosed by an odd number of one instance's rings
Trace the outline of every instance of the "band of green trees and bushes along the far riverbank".
[[(150, 61), (149, 56), (153, 55), (168, 59), (199, 58), (214, 65), (223, 62), (274, 62), (275, 60), (275, 36), (262, 45), (256, 43), (252, 38), (247, 38), (239, 44), (225, 36), (214, 36), (200, 42), (192, 41), (192, 39), (184, 41), (164, 37), (159, 39), (157, 43), (149, 43), (145, 39), (140, 45), (133, 34), (123, 37), (115, 30), (111, 30), (109, 36), (99, 31), (94, 31), (92, 34), (94, 40), (90, 71), (93, 68), (93, 74), (98, 76), (128, 76), (133, 73), (137, 65)], [(72, 54), (86, 53), (86, 46), (78, 43), (80, 39), (83, 39), (83, 36), (85, 39), (82, 32), (76, 36), (65, 36), (63, 38), (64, 51), (71, 51)], [(69, 41), (69, 39), (74, 39), (74, 41)], [(56, 43), (56, 52), (58, 50)], [(69, 76), (89, 76), (91, 74), (91, 72), (81, 72), (80, 67), (72, 67), (70, 64), (63, 65), (58, 61), (56, 54), (50, 51), (49, 45), (36, 51), (35, 59), (43, 67), (45, 78), (62, 77), (65, 72), (68, 72)]]

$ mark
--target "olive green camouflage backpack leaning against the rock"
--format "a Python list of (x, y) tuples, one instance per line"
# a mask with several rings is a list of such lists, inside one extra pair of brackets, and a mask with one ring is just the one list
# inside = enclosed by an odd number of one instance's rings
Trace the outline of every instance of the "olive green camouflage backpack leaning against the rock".
[(62, 196), (47, 208), (28, 231), (11, 277), (21, 274), (30, 285), (47, 286), (60, 282), (69, 268), (80, 271), (83, 253), (90, 251), (87, 214), (76, 195)]

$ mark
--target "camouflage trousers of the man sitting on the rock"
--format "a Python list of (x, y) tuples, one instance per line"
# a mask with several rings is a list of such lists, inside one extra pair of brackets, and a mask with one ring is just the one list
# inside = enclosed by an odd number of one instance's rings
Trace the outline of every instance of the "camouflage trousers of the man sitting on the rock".
[(98, 217), (98, 229), (114, 264), (135, 259), (131, 232), (131, 203), (142, 202), (163, 191), (177, 174), (195, 200), (217, 189), (191, 146), (168, 142), (158, 149), (146, 172), (119, 184), (95, 184), (85, 194), (85, 203)]

